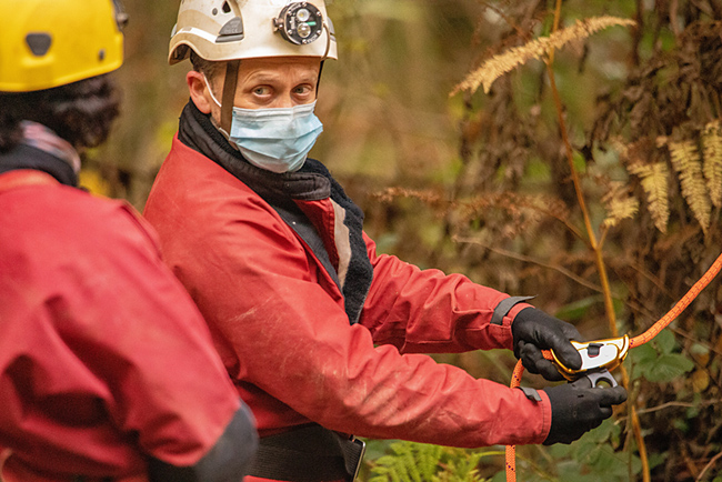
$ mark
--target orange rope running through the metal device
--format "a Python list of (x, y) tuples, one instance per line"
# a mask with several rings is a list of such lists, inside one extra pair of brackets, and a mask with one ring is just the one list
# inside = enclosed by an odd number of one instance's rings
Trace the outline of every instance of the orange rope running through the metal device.
[[(644, 333), (640, 334), (639, 337), (634, 337), (630, 340), (630, 349), (640, 347), (644, 343), (648, 343), (652, 341), (654, 337), (656, 337), (660, 331), (664, 330), (669, 324), (675, 320), (682, 311), (686, 309), (686, 307), (690, 305), (692, 301), (700, 294), (702, 290), (706, 288), (708, 284), (714, 279), (714, 277), (718, 275), (718, 273), (722, 270), (722, 254), (718, 257), (718, 259), (712, 263), (709, 270), (700, 278), (696, 283), (690, 288), (690, 291), (686, 292), (684, 297), (680, 301), (672, 307), (672, 309), (664, 315), (662, 317), (659, 321), (656, 321), (653, 325), (651, 325)], [(552, 354), (551, 351), (549, 350), (542, 350), (542, 354), (546, 360), (552, 360)], [(509, 386), (512, 389), (517, 388), (521, 383), (521, 375), (524, 373), (524, 366), (521, 364), (521, 360), (517, 362), (517, 366), (514, 366), (514, 371), (511, 374), (511, 383)], [(517, 482), (517, 446), (515, 445), (507, 445), (507, 482)]]

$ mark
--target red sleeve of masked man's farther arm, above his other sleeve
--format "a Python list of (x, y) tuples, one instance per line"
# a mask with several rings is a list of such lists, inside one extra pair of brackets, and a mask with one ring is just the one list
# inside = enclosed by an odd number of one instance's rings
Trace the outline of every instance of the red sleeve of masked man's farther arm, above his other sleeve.
[(375, 243), (368, 237), (365, 241), (373, 283), (360, 321), (375, 343), (390, 343), (405, 353), (512, 349), (511, 322), (530, 304), (515, 304), (502, 324), (492, 324), (494, 310), (508, 294), (461, 274), (421, 270), (395, 257), (378, 255)]

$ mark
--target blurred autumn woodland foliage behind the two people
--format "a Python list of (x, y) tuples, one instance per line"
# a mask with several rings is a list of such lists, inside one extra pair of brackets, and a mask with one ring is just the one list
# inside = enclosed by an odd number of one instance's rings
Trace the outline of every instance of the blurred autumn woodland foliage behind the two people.
[[(127, 62), (118, 72), (123, 117), (110, 142), (89, 154), (83, 181), (142, 209), (188, 101), (188, 63), (166, 62), (177, 1), (124, 3), (131, 20)], [(548, 36), (554, 7), (551, 0), (334, 0), (329, 12), (340, 60), (324, 68), (318, 114), (325, 131), (312, 155), (364, 209), (367, 230), (382, 251), (512, 294), (537, 294), (538, 307), (575, 323), (589, 339), (608, 338), (604, 287), (570, 181), (544, 62), (515, 69), (488, 94), (450, 97), (483, 60)], [(722, 2), (568, 0), (561, 13), (561, 27), (602, 14), (638, 22), (570, 44), (553, 63), (573, 165), (603, 240), (615, 327), (638, 334), (722, 247), (714, 203), (722, 147), (705, 151), (709, 135), (722, 138), (713, 123), (722, 116)], [(693, 208), (672, 162), (671, 147), (680, 143), (696, 148), (700, 165), (712, 165), (713, 182), (698, 187), (708, 218)], [(683, 157), (694, 161), (693, 153)], [(656, 201), (641, 174), (645, 165), (668, 170), (653, 180)], [(666, 200), (666, 214), (659, 199)], [(635, 209), (623, 219), (614, 214), (614, 200)], [(498, 351), (438, 359), (504, 384), (514, 362)], [(520, 448), (519, 479), (715, 479), (722, 474), (721, 362), (722, 285), (714, 281), (671, 330), (628, 360), (628, 405), (639, 414), (645, 464), (626, 406), (570, 446)], [(524, 383), (543, 385), (534, 376)], [(429, 452), (373, 441), (370, 459), (400, 458), (400, 450), (404, 456)], [(503, 479), (499, 450), (440, 453), (439, 460), (449, 472), (471, 458), (474, 476), (497, 481)], [(365, 478), (394, 480), (379, 472), (383, 464), (373, 465)]]

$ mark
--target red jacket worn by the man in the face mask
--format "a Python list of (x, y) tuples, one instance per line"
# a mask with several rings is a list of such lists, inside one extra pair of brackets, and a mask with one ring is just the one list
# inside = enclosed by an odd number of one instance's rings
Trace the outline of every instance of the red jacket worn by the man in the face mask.
[[(338, 264), (338, 205), (328, 198), (295, 202)], [(507, 294), (379, 255), (365, 237), (373, 282), (360, 322), (350, 324), (337, 283), (294, 230), (178, 138), (144, 214), (261, 436), (313, 421), (360, 436), (467, 448), (545, 439), (545, 393), (535, 403), (420, 354), (509, 349), (510, 323), (528, 304), (491, 324)]]

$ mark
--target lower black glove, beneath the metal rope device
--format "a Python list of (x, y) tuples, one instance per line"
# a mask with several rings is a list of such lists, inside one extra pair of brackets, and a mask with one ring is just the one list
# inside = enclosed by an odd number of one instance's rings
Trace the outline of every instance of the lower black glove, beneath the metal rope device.
[(552, 404), (552, 428), (544, 445), (572, 443), (610, 418), (612, 405), (626, 400), (623, 386), (592, 388), (585, 376), (573, 383), (548, 386), (544, 392)]

